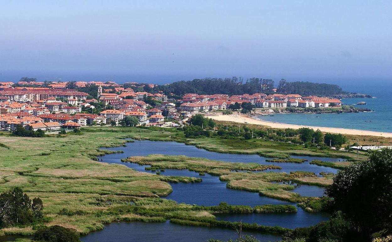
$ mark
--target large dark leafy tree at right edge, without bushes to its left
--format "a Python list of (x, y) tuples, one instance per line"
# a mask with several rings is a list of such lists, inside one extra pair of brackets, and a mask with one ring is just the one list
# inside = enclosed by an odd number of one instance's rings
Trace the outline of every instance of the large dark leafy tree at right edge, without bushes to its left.
[(391, 231), (391, 149), (373, 152), (366, 161), (339, 171), (332, 181), (326, 188), (332, 198), (330, 209), (342, 211), (357, 235), (356, 241), (370, 241), (372, 233)]

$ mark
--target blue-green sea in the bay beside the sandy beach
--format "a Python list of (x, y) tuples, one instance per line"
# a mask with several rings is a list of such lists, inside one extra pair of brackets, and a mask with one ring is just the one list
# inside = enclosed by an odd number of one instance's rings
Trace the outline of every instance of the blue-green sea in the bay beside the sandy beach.
[[(341, 85), (343, 86), (343, 85)], [(344, 86), (344, 90), (372, 95), (374, 98), (342, 98), (344, 105), (371, 109), (361, 113), (285, 113), (256, 116), (260, 120), (282, 124), (335, 127), (392, 133), (392, 84)], [(358, 102), (366, 105), (356, 105)]]

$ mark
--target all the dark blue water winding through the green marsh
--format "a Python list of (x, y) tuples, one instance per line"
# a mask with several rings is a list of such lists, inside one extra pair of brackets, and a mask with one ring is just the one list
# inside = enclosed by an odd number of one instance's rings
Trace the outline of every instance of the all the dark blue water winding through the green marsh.
[[(265, 157), (259, 155), (227, 154), (206, 151), (195, 146), (188, 146), (177, 142), (160, 142), (160, 141), (134, 141), (129, 142), (126, 146), (104, 148), (113, 151), (124, 151), (124, 153), (113, 153), (99, 157), (102, 162), (123, 164), (132, 169), (142, 172), (146, 171), (145, 167), (129, 162), (121, 162), (121, 158), (128, 156), (146, 156), (151, 154), (162, 155), (186, 155), (191, 157), (208, 158), (211, 160), (221, 160), (225, 162), (243, 162), (259, 163), (263, 165), (276, 164), (282, 169), (271, 169), (263, 172), (287, 172), (290, 171), (310, 171), (319, 175), (321, 172), (336, 173), (338, 170), (330, 167), (311, 165), (309, 162), (315, 157), (312, 156), (291, 156), (293, 158), (306, 159), (304, 163), (272, 163), (267, 162)], [(317, 157), (323, 161), (343, 161), (339, 158)], [(226, 188), (226, 182), (221, 182), (218, 176), (205, 174), (200, 176), (198, 173), (189, 170), (165, 169), (161, 175), (171, 176), (193, 176), (203, 179), (200, 183), (171, 183), (173, 192), (166, 199), (174, 200), (178, 203), (197, 204), (204, 206), (216, 206), (220, 202), (227, 202), (231, 205), (249, 205), (258, 206), (263, 204), (292, 204), (290, 202), (280, 201), (273, 198), (260, 196), (258, 193), (248, 191), (234, 190)], [(303, 196), (319, 197), (323, 195), (323, 188), (317, 186), (301, 185), (292, 191)], [(292, 204), (296, 205), (296, 204)], [(305, 227), (317, 224), (328, 219), (325, 213), (307, 213), (298, 208), (297, 213), (283, 214), (215, 214), (216, 219), (226, 221), (241, 221), (247, 223), (257, 223), (266, 226), (281, 226), (287, 228)], [(276, 241), (280, 237), (276, 235), (265, 235), (254, 232), (247, 234), (256, 236), (262, 242)], [(232, 229), (216, 227), (194, 227), (181, 226), (178, 224), (165, 223), (142, 223), (142, 222), (120, 222), (112, 223), (105, 226), (102, 231), (92, 232), (83, 236), (83, 242), (93, 241), (190, 241), (201, 242), (209, 238), (227, 240), (235, 238), (236, 235)]]

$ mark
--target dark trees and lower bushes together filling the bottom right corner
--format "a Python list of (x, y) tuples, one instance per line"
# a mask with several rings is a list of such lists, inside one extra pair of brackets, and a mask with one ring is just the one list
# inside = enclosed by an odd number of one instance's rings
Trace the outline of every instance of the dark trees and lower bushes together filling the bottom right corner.
[[(392, 150), (339, 171), (326, 188), (330, 220), (297, 228), (283, 241), (370, 242), (392, 233)], [(390, 241), (377, 239), (373, 241)]]

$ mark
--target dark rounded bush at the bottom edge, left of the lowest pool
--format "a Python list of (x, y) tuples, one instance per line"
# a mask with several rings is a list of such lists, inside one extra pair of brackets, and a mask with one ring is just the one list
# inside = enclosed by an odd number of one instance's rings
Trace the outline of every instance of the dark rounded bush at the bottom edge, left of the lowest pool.
[(33, 240), (48, 242), (80, 242), (79, 233), (76, 229), (69, 229), (54, 225), (41, 227), (34, 233)]

